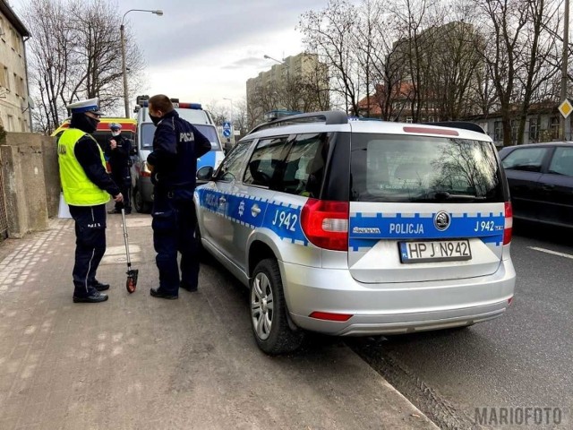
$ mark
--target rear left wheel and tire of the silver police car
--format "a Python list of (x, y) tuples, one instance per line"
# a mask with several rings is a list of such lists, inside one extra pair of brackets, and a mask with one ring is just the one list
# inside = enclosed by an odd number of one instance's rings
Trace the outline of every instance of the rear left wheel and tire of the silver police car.
[(275, 260), (268, 258), (257, 264), (250, 291), (252, 334), (259, 348), (270, 356), (299, 348), (304, 331), (293, 331), (288, 325), (283, 283)]

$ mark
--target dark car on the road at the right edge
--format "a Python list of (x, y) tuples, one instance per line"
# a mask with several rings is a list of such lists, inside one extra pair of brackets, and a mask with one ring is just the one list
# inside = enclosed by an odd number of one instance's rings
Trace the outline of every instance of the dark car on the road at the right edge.
[(573, 142), (500, 150), (517, 219), (573, 228)]

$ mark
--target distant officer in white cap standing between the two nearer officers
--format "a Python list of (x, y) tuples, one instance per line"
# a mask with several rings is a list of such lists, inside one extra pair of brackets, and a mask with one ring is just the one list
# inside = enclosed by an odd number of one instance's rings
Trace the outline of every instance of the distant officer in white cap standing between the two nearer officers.
[(111, 123), (109, 125), (112, 138), (107, 142), (106, 155), (109, 159), (111, 177), (124, 196), (124, 202), (115, 202), (115, 209), (109, 213), (132, 213), (132, 205), (129, 199), (129, 190), (132, 186), (131, 153), (132, 142), (122, 136), (122, 125)]

